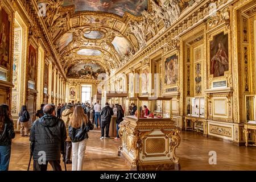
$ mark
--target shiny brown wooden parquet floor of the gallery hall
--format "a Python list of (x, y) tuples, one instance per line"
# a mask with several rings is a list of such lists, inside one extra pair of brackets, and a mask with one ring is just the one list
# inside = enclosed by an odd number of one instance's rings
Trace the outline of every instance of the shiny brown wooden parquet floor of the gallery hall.
[[(121, 142), (112, 139), (100, 140), (100, 130), (89, 133), (83, 169), (86, 171), (129, 170), (125, 160), (117, 156)], [(27, 170), (30, 150), (28, 137), (13, 140), (11, 151), (11, 171)], [(216, 151), (217, 164), (210, 165), (209, 151)], [(193, 131), (181, 133), (181, 144), (176, 152), (180, 158), (181, 170), (256, 170), (256, 148), (236, 146), (222, 140), (203, 137)], [(67, 164), (71, 170), (72, 164)], [(64, 169), (64, 163), (61, 162)], [(30, 167), (32, 170), (32, 164)], [(51, 170), (51, 167), (48, 167)]]

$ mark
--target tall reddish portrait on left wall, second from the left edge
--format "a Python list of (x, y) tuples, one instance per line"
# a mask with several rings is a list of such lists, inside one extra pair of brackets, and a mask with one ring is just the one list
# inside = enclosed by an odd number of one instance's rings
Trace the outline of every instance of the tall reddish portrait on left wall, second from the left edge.
[(36, 81), (36, 49), (30, 46), (28, 50), (28, 80)]

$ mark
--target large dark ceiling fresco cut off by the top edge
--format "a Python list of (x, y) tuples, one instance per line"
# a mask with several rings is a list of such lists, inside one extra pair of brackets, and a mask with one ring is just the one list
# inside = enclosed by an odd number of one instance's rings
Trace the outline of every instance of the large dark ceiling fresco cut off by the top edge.
[(101, 11), (123, 16), (125, 12), (134, 16), (141, 16), (147, 9), (147, 0), (64, 0), (63, 6), (75, 5), (78, 11)]

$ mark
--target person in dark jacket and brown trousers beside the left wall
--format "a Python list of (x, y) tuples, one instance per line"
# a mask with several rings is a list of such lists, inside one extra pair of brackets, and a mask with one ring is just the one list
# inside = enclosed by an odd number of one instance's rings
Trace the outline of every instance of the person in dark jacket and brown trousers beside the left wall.
[(28, 137), (30, 130), (28, 121), (30, 121), (30, 114), (27, 111), (27, 106), (24, 105), (19, 111), (20, 136), (22, 137)]

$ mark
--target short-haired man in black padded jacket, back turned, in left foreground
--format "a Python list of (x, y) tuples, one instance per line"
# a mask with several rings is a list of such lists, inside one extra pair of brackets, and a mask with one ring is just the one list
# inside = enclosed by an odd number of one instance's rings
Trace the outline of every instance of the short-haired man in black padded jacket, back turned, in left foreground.
[(30, 133), (34, 171), (47, 171), (51, 164), (54, 171), (61, 171), (60, 153), (65, 152), (67, 132), (62, 119), (55, 117), (55, 106), (48, 104), (43, 108), (44, 116), (37, 119)]

